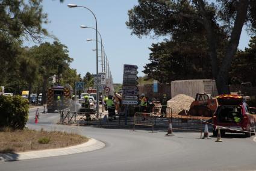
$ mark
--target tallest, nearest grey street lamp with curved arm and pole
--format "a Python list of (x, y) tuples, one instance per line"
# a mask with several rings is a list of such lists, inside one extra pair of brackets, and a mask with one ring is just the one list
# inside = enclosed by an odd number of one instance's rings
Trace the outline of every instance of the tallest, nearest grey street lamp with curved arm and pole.
[[(96, 74), (98, 75), (99, 70), (98, 70), (98, 26), (97, 26), (97, 19), (95, 14), (93, 13), (92, 10), (90, 10), (87, 7), (84, 6), (80, 6), (80, 5), (76, 5), (76, 4), (68, 4), (67, 7), (69, 8), (75, 8), (75, 7), (81, 7), (81, 8), (86, 8), (87, 10), (89, 10), (93, 16), (95, 17), (95, 29), (96, 29)], [(97, 116), (99, 116), (99, 86), (96, 86), (97, 89)]]

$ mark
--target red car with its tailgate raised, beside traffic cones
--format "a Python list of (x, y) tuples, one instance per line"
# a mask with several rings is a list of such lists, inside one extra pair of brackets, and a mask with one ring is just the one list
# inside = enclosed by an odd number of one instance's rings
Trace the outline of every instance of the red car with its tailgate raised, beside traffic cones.
[(247, 137), (255, 135), (255, 117), (252, 116), (248, 105), (243, 102), (242, 96), (220, 95), (216, 98), (219, 106), (213, 115), (213, 135), (217, 135), (216, 125), (224, 127), (219, 127), (221, 134), (233, 132), (245, 133)]

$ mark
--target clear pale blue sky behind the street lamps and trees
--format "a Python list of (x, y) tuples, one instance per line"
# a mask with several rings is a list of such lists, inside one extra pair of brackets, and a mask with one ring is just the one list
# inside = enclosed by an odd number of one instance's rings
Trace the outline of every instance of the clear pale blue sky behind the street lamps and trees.
[[(98, 31), (102, 36), (102, 43), (110, 63), (114, 83), (122, 83), (123, 64), (134, 64), (139, 67), (138, 76), (143, 76), (143, 66), (149, 63), (149, 47), (158, 43), (163, 37), (151, 39), (131, 35), (131, 30), (125, 25), (128, 20), (128, 10), (137, 4), (137, 0), (59, 0), (43, 1), (43, 10), (48, 13), (49, 23), (44, 25), (49, 33), (67, 46), (69, 57), (73, 58), (70, 66), (84, 76), (87, 72), (96, 73), (96, 42), (87, 42), (86, 39), (96, 39), (95, 30), (81, 29), (80, 25), (95, 28), (95, 18), (85, 8), (68, 8), (67, 4), (76, 4), (90, 8), (98, 21)], [(100, 38), (98, 37), (100, 40)], [(53, 40), (48, 38), (46, 42)], [(248, 46), (249, 36), (243, 31), (239, 48)], [(32, 42), (25, 42), (24, 46), (33, 46)], [(99, 49), (101, 48), (98, 44)], [(99, 51), (99, 55), (101, 51)], [(99, 62), (99, 72), (101, 72)]]

